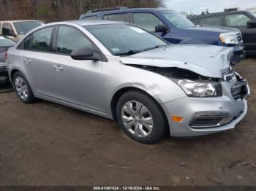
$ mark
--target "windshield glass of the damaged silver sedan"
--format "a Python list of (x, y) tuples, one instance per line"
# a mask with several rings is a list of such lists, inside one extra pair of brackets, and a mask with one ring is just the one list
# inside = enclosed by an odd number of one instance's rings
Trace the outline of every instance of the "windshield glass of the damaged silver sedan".
[(141, 28), (127, 24), (85, 26), (113, 55), (132, 55), (167, 42)]

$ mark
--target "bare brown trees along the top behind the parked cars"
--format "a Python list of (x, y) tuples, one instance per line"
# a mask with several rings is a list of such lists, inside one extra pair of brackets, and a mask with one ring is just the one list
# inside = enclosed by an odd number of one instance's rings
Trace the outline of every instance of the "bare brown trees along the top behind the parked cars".
[(163, 0), (0, 0), (0, 19), (53, 22), (78, 19), (90, 9), (163, 6)]

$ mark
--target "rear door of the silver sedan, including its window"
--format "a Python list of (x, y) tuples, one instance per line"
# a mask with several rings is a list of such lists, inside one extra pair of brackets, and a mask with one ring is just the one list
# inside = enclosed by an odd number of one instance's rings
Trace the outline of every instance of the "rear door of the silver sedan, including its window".
[(35, 93), (53, 94), (53, 57), (51, 52), (53, 27), (42, 28), (28, 36), (18, 47), (20, 60)]

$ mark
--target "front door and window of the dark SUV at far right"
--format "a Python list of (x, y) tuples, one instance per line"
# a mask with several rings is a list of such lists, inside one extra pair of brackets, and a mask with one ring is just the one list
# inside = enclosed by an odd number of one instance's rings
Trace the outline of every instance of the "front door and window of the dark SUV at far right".
[(241, 31), (246, 52), (256, 52), (256, 28), (247, 28), (249, 20), (251, 18), (244, 13), (225, 15), (225, 25)]

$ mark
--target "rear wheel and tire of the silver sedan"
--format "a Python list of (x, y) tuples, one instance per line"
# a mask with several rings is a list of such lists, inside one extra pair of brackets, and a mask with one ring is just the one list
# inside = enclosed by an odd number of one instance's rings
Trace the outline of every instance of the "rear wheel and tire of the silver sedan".
[(26, 80), (26, 77), (24, 77), (20, 71), (17, 71), (14, 74), (13, 87), (18, 97), (20, 98), (20, 101), (23, 101), (23, 103), (32, 104), (36, 101), (28, 80)]

